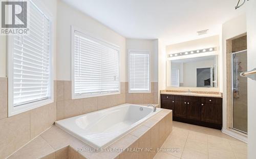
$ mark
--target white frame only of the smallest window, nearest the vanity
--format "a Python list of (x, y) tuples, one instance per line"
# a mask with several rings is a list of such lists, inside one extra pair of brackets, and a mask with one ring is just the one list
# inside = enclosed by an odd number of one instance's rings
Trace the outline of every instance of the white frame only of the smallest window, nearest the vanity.
[[(130, 87), (130, 83), (131, 83), (131, 79), (130, 79), (130, 75), (131, 75), (131, 70), (130, 70), (130, 54), (131, 53), (134, 53), (134, 52), (139, 52), (139, 54), (148, 54), (148, 82), (149, 82), (149, 90), (131, 90), (131, 87)], [(128, 79), (129, 79), (129, 83), (128, 83), (128, 86), (129, 86), (129, 93), (151, 93), (151, 52), (149, 50), (138, 50), (138, 49), (129, 49), (128, 50), (128, 72), (129, 72), (129, 75), (128, 75)]]

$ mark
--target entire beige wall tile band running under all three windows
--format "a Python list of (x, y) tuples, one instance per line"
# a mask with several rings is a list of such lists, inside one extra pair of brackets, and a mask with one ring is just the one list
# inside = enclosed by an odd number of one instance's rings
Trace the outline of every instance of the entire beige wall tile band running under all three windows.
[(139, 104), (157, 103), (157, 82), (152, 82), (151, 94), (138, 94), (134, 96), (134, 100), (126, 99), (126, 85), (128, 86), (128, 82), (120, 83), (121, 92), (118, 95), (72, 100), (71, 81), (54, 81), (53, 103), (8, 118), (8, 78), (0, 78), (0, 158), (11, 155), (51, 127), (56, 120), (109, 108), (126, 101)]

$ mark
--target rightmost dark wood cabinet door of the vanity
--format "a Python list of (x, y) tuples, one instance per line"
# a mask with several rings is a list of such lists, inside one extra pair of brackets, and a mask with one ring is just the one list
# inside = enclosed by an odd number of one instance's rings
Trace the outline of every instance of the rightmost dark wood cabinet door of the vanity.
[(201, 104), (201, 121), (222, 124), (222, 106), (219, 104)]

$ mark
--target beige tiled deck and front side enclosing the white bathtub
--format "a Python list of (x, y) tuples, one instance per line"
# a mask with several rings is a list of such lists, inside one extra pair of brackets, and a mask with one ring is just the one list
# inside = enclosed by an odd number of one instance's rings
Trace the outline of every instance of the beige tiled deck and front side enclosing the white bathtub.
[[(76, 139), (66, 131), (52, 126), (36, 139), (18, 150), (9, 158), (53, 158), (57, 152), (69, 146), (70, 158), (154, 158), (156, 151), (129, 151), (127, 148), (160, 148), (170, 132), (172, 132), (172, 110), (162, 109), (142, 125), (124, 135), (108, 148), (118, 148), (124, 151), (76, 151), (77, 149), (93, 150), (86, 143)], [(63, 150), (64, 151), (64, 150)], [(65, 157), (63, 157), (65, 158)]]

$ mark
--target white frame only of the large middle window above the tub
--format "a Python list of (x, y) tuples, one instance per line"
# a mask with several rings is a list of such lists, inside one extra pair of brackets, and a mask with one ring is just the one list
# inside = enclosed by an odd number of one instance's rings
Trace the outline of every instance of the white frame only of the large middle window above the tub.
[[(75, 36), (75, 31), (80, 32), (81, 34), (83, 34), (84, 36), (90, 37), (95, 39), (96, 41), (100, 42), (100, 43), (104, 43), (106, 44), (106, 46), (115, 49), (118, 51), (118, 91), (117, 92), (104, 92), (104, 93), (93, 93), (93, 94), (81, 94), (81, 95), (75, 95), (75, 86), (74, 86), (74, 82), (75, 82), (75, 78), (74, 78), (74, 36)], [(109, 96), (109, 95), (118, 95), (121, 94), (121, 82), (120, 82), (120, 47), (117, 46), (116, 44), (113, 44), (109, 41), (105, 41), (102, 38), (96, 37), (95, 35), (92, 35), (91, 33), (88, 33), (86, 31), (83, 31), (82, 29), (75, 27), (75, 26), (71, 26), (71, 87), (72, 87), (72, 99), (82, 99), (82, 98), (92, 98), (92, 97), (101, 97), (101, 96)]]

